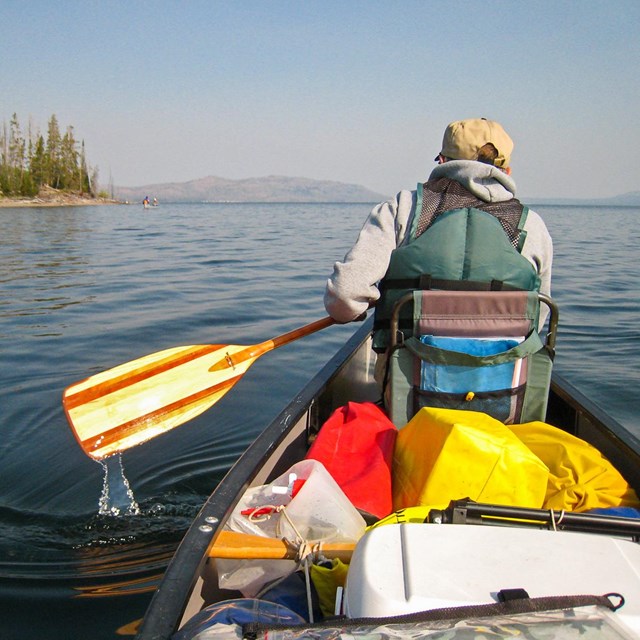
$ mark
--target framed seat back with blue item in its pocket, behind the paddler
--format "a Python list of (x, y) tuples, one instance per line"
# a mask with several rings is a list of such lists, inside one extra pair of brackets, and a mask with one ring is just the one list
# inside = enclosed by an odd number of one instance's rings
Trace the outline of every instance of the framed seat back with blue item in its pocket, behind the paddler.
[[(550, 308), (545, 342), (540, 303)], [(407, 337), (399, 318), (412, 308)], [(404, 426), (422, 407), (480, 411), (505, 424), (544, 421), (558, 309), (536, 291), (419, 290), (391, 317), (385, 398)]]

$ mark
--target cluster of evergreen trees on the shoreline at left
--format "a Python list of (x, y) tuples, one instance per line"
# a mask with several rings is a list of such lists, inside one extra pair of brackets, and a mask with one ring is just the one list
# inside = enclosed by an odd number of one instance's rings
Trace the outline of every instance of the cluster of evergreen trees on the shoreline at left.
[(54, 114), (46, 135), (31, 122), (24, 131), (14, 113), (0, 129), (0, 199), (35, 198), (47, 187), (95, 197), (97, 169), (90, 169), (84, 140), (76, 140), (73, 126), (62, 133)]

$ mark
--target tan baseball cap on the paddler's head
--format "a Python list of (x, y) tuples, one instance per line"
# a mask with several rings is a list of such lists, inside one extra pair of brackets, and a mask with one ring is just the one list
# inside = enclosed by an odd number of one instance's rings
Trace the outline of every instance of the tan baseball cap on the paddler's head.
[(440, 153), (451, 160), (477, 160), (478, 151), (488, 142), (498, 150), (494, 165), (501, 168), (508, 167), (513, 151), (513, 140), (507, 135), (502, 125), (486, 118), (452, 122), (444, 132)]

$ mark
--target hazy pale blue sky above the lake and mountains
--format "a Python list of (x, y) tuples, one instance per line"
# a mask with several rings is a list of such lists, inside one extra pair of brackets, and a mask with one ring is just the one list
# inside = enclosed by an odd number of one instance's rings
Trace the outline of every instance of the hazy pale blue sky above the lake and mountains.
[(640, 1), (1, 0), (0, 121), (107, 185), (271, 174), (392, 194), (500, 121), (526, 197), (640, 190)]

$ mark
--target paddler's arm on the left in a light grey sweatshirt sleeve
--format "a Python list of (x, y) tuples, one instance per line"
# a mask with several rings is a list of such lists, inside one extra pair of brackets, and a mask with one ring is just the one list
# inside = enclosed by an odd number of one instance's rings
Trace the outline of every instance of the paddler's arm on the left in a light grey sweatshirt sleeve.
[(406, 220), (397, 224), (398, 203), (406, 200), (407, 195), (411, 199), (410, 192), (401, 192), (374, 207), (352, 249), (342, 262), (334, 264), (324, 305), (338, 322), (355, 320), (380, 297), (376, 285), (387, 271), (391, 252), (404, 235)]

